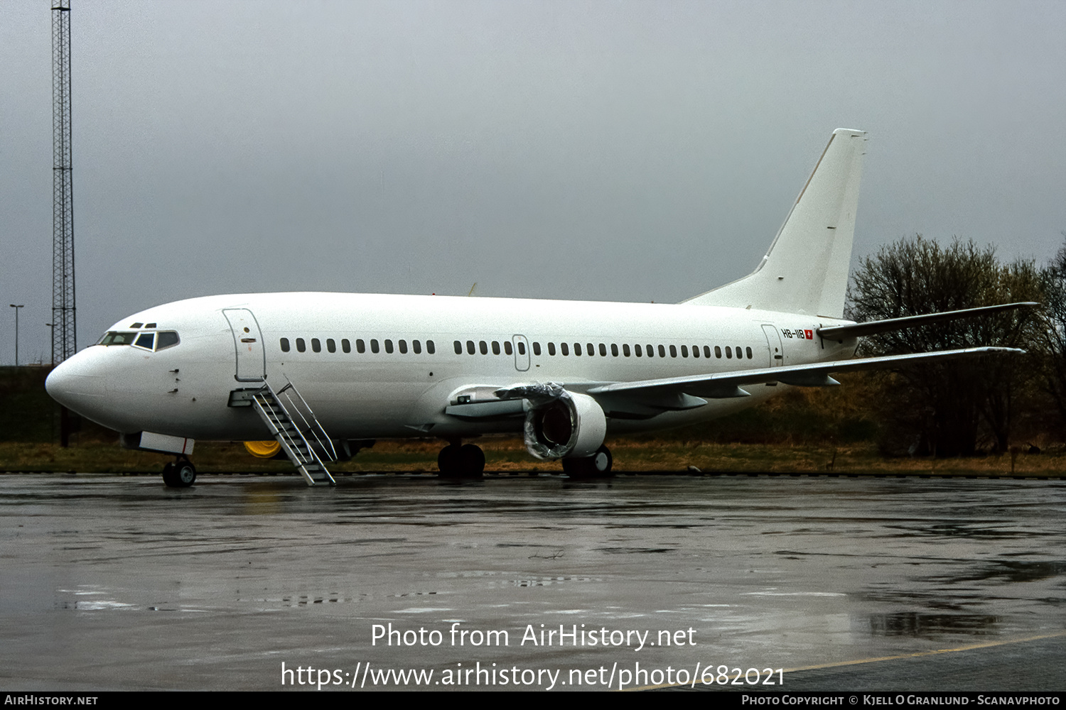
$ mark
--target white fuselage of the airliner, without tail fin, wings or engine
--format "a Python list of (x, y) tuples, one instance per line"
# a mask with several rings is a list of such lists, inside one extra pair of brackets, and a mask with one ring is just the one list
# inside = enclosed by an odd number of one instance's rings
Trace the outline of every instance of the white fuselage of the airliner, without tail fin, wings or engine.
[[(68, 360), (49, 392), (120, 432), (199, 440), (269, 439), (231, 393), (293, 382), (330, 436), (462, 437), (520, 431), (520, 419), (446, 414), (463, 392), (556, 382), (597, 384), (851, 357), (794, 313), (691, 304), (335, 293), (210, 296), (116, 323), (116, 333), (174, 332), (176, 345), (95, 345)], [(134, 326), (139, 326), (134, 328)], [(148, 327), (150, 326), (150, 327)], [(247, 330), (245, 330), (247, 329)], [(129, 340), (129, 339), (127, 339)], [(432, 351), (431, 351), (432, 350)], [(472, 350), (472, 352), (471, 352)], [(610, 433), (722, 416), (779, 392), (711, 399), (642, 418), (608, 416)]]

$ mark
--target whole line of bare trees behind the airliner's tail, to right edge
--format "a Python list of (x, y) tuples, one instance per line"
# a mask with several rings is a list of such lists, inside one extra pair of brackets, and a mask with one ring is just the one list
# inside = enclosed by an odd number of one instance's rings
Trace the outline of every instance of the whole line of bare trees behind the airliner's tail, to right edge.
[(865, 357), (999, 346), (1024, 354), (869, 374), (870, 417), (886, 452), (970, 456), (1061, 440), (1066, 422), (1066, 246), (1047, 264), (1003, 263), (992, 246), (921, 235), (861, 260), (846, 317), (863, 321), (1036, 301), (1033, 309), (862, 339)]

